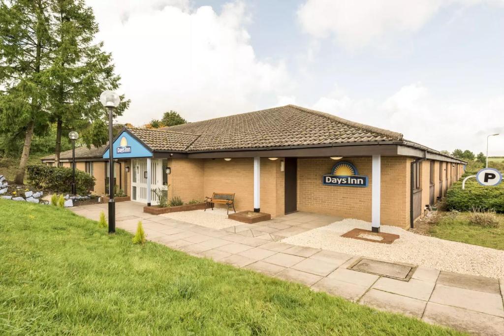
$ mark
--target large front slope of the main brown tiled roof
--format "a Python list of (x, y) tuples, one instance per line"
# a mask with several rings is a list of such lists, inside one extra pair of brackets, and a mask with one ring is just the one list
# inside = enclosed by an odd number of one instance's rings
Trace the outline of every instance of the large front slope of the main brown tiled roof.
[(399, 141), (390, 130), (295, 105), (160, 128), (199, 136), (188, 151)]

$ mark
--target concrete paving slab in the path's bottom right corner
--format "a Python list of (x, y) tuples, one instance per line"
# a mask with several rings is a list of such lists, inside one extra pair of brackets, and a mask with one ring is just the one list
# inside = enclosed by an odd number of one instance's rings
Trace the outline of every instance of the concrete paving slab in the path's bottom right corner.
[(494, 336), (504, 334), (504, 318), (475, 311), (428, 302), (422, 320), (450, 326), (471, 334)]

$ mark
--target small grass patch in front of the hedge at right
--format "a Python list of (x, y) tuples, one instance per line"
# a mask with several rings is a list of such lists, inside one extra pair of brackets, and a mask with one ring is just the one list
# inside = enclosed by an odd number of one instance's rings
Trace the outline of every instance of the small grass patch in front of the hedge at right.
[(456, 219), (443, 218), (433, 225), (429, 233), (437, 238), (460, 241), (467, 244), (504, 250), (504, 216), (498, 228), (483, 228), (469, 223), (468, 213), (461, 213)]

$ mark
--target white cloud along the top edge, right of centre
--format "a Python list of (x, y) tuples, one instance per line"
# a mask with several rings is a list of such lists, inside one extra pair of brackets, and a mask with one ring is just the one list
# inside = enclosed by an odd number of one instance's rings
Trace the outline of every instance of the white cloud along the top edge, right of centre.
[(334, 36), (349, 49), (382, 41), (391, 35), (416, 32), (441, 8), (457, 4), (503, 5), (502, 0), (306, 0), (297, 16), (315, 38)]

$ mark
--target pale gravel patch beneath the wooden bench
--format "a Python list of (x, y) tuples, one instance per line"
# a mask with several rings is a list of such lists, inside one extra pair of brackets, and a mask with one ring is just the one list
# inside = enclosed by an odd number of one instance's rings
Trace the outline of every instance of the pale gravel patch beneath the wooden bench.
[(179, 211), (175, 213), (162, 214), (160, 216), (176, 219), (178, 221), (197, 224), (216, 230), (228, 228), (230, 226), (241, 225), (243, 223), (227, 218), (227, 209), (216, 208), (214, 211), (207, 209), (195, 211)]

